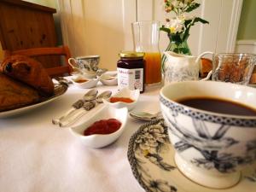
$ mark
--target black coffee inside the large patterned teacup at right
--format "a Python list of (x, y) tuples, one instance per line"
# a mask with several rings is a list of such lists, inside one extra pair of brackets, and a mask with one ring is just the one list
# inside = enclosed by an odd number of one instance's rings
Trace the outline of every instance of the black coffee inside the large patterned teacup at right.
[(191, 108), (198, 108), (214, 113), (236, 114), (236, 115), (256, 115), (256, 109), (249, 108), (237, 102), (230, 102), (218, 98), (211, 97), (195, 97), (184, 98), (177, 102), (189, 106)]

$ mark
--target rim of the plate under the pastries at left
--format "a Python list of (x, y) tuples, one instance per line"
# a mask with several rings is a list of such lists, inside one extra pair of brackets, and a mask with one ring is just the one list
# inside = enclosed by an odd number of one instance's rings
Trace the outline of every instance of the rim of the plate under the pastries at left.
[(34, 109), (34, 108), (38, 108), (42, 105), (45, 105), (48, 102), (53, 102), (55, 99), (57, 99), (58, 97), (63, 95), (66, 91), (67, 91), (67, 85), (66, 84), (55, 85), (55, 94), (54, 94), (54, 96), (50, 96), (49, 98), (44, 98), (42, 102), (38, 102), (38, 103), (32, 104), (30, 106), (26, 106), (26, 107), (23, 107), (23, 108), (15, 108), (15, 109), (12, 109), (12, 110), (9, 110), (9, 111), (0, 112), (0, 118), (8, 118), (8, 117), (20, 114), (20, 113), (25, 113), (27, 111), (30, 111), (30, 110)]

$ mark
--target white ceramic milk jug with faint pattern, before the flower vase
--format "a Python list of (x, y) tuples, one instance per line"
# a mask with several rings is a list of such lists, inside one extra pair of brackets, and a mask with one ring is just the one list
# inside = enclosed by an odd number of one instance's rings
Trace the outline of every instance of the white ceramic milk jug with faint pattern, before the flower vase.
[[(166, 85), (177, 81), (198, 80), (201, 57), (213, 53), (206, 51), (197, 57), (193, 55), (180, 55), (172, 51), (166, 51), (164, 54), (167, 57), (165, 66), (163, 67)], [(210, 76), (211, 73), (208, 73), (207, 78), (201, 80), (207, 80)]]

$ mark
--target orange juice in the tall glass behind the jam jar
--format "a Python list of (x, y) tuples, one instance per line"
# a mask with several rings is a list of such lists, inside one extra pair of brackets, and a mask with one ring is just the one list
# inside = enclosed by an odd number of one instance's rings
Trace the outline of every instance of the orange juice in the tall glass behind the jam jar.
[(145, 53), (145, 84), (156, 84), (161, 81), (161, 55), (159, 52)]

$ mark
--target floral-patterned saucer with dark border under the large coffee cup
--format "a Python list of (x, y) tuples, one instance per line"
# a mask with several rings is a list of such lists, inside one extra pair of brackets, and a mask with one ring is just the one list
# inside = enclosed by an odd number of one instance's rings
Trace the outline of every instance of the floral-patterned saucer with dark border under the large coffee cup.
[(164, 119), (142, 125), (131, 136), (127, 155), (134, 177), (147, 192), (253, 192), (256, 189), (256, 165), (241, 172), (240, 182), (228, 189), (210, 189), (183, 176), (174, 162), (174, 148)]

